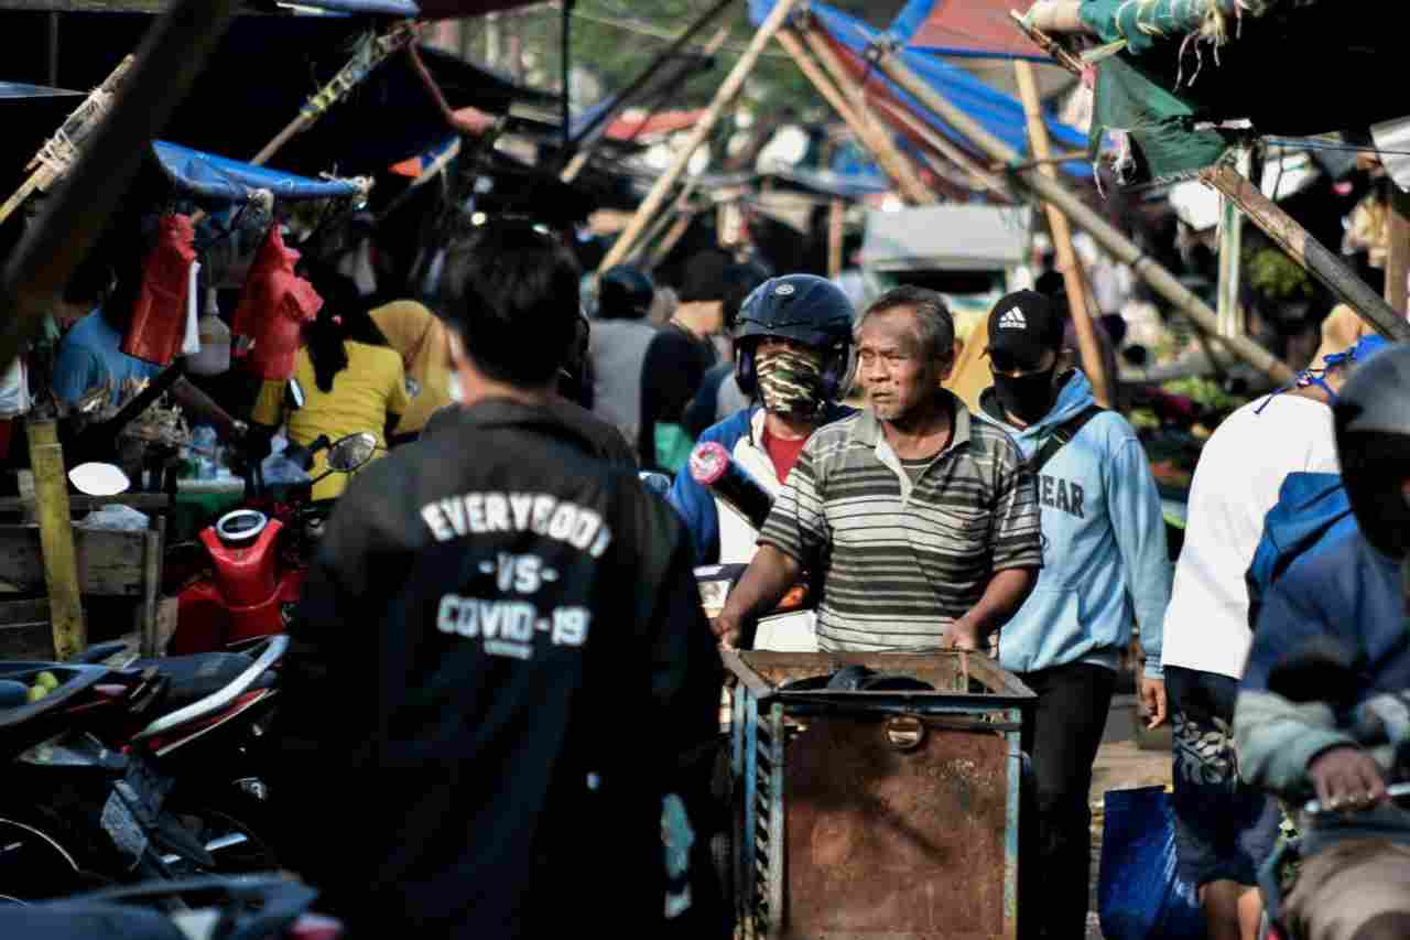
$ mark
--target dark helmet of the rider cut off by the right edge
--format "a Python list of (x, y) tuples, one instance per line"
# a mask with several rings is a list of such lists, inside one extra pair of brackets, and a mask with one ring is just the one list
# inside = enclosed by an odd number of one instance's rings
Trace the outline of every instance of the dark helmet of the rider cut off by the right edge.
[(1403, 559), (1410, 552), (1410, 346), (1358, 366), (1332, 405), (1337, 454), (1351, 510), (1366, 541)]

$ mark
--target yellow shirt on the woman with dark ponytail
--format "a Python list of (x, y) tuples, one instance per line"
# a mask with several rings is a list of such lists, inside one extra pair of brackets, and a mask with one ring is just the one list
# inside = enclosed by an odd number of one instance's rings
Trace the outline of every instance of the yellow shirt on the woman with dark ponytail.
[[(293, 363), (293, 377), (303, 387), (303, 408), (283, 414), (283, 392), (288, 382), (265, 382), (255, 399), (250, 419), (278, 426), (286, 423), (289, 440), (309, 446), (319, 435), (337, 440), (360, 430), (376, 435), (375, 456), (386, 453), (384, 428), (389, 415), (402, 415), (410, 404), (406, 398), (406, 374), (402, 371), (402, 357), (385, 346), (365, 343), (344, 343), (348, 366), (333, 377), (333, 391), (323, 391), (314, 381), (313, 360), (309, 350), (300, 349)], [(320, 450), (313, 459), (310, 474), (317, 477), (327, 470), (327, 450)], [(314, 500), (331, 500), (343, 494), (348, 474), (333, 473), (313, 487)]]

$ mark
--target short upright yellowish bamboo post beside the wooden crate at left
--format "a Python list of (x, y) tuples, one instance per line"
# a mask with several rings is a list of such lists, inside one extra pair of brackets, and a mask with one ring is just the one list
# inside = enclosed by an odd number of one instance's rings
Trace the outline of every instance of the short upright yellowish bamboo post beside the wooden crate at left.
[(54, 624), (54, 655), (56, 659), (72, 659), (87, 649), (87, 629), (79, 596), (79, 565), (69, 517), (63, 447), (54, 421), (27, 421), (25, 430), (30, 438), (30, 466), (34, 469), (34, 500), (39, 514), (44, 583), (49, 591), (49, 617)]

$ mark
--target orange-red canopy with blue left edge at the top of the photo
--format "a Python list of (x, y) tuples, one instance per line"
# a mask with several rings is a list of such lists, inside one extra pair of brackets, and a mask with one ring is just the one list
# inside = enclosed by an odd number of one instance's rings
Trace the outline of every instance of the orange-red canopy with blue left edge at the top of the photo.
[(1014, 24), (1026, 0), (911, 0), (891, 35), (911, 49), (976, 58), (1049, 58)]

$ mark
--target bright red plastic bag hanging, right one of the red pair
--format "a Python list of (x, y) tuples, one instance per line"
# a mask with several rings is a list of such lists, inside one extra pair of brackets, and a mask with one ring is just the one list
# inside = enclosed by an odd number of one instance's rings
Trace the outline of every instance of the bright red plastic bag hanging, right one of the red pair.
[(293, 377), (300, 330), (323, 308), (313, 285), (293, 272), (298, 260), (299, 253), (285, 247), (279, 226), (269, 226), (235, 308), (235, 354), (244, 357), (245, 371), (262, 381)]

